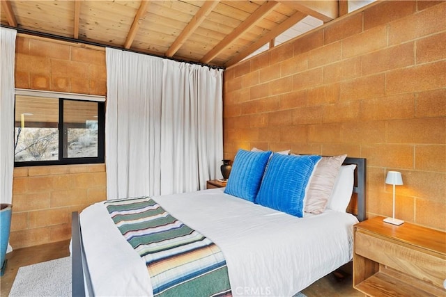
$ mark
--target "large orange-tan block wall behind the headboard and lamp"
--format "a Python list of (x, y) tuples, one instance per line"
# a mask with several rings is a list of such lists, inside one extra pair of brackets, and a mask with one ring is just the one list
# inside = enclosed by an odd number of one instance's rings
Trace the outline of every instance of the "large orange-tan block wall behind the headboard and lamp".
[(224, 72), (238, 148), (367, 158), (369, 216), (446, 230), (446, 3), (383, 1)]

